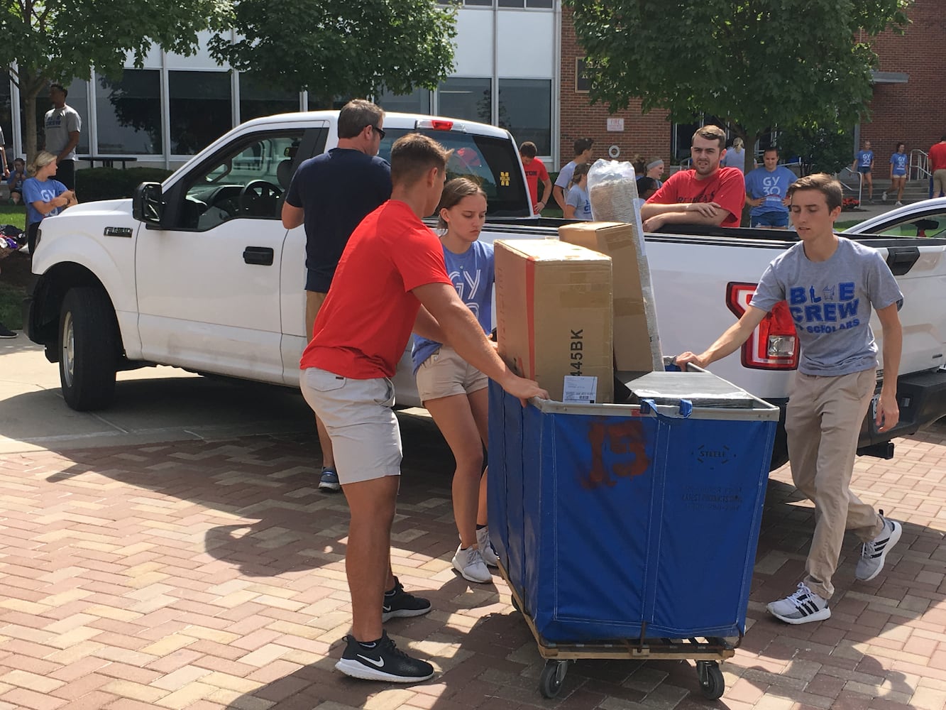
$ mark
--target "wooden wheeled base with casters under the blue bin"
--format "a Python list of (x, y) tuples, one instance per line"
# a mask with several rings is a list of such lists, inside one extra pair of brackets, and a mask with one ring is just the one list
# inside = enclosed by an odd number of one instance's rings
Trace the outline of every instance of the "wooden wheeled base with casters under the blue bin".
[[(708, 700), (714, 701), (723, 696), (726, 682), (719, 661), (732, 658), (739, 644), (730, 644), (726, 639), (710, 637), (703, 641), (690, 639), (639, 638), (617, 639), (607, 643), (591, 644), (552, 644), (542, 638), (535, 624), (525, 609), (522, 599), (512, 584), (505, 567), (499, 562), (499, 573), (505, 579), (513, 595), (513, 606), (521, 612), (529, 629), (535, 637), (539, 655), (546, 659), (545, 667), (539, 678), (539, 692), (544, 698), (554, 698), (562, 689), (569, 661), (578, 659), (639, 659), (654, 661), (688, 660), (696, 662), (696, 677), (700, 691)], [(742, 637), (740, 637), (742, 641)]]

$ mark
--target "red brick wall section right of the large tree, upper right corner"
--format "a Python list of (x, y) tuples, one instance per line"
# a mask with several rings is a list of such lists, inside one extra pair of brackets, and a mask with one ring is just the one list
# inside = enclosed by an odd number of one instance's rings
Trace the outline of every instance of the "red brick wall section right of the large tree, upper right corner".
[(874, 86), (871, 116), (861, 124), (882, 167), (898, 141), (907, 151), (928, 151), (946, 133), (946, 7), (943, 0), (917, 0), (909, 15), (906, 34), (885, 32), (871, 43), (880, 71), (909, 75), (905, 84)]

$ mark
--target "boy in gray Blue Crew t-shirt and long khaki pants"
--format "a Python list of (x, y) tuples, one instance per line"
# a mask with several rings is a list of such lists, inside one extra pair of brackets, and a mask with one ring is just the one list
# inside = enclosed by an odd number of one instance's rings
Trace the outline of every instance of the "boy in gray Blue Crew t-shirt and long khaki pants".
[(864, 581), (880, 574), (887, 552), (900, 540), (902, 525), (862, 503), (850, 491), (850, 478), (861, 422), (876, 386), (871, 308), (884, 335), (884, 383), (874, 423), (878, 432), (886, 432), (900, 419), (897, 311), (903, 295), (879, 252), (834, 234), (842, 200), (836, 180), (824, 173), (809, 175), (788, 188), (788, 198), (799, 243), (769, 264), (738, 323), (702, 354), (685, 352), (676, 363), (705, 367), (726, 357), (777, 303), (788, 302), (801, 351), (785, 431), (792, 479), (815, 503), (815, 537), (797, 591), (767, 608), (786, 623), (804, 624), (831, 616), (831, 579), (846, 529), (863, 541), (855, 576)]

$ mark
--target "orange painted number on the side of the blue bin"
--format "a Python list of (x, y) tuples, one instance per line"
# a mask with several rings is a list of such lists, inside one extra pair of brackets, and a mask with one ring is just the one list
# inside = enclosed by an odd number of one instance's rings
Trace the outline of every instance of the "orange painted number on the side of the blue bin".
[(593, 422), (588, 427), (591, 470), (582, 479), (582, 486), (614, 486), (617, 478), (639, 476), (650, 466), (645, 442), (643, 424), (639, 421)]

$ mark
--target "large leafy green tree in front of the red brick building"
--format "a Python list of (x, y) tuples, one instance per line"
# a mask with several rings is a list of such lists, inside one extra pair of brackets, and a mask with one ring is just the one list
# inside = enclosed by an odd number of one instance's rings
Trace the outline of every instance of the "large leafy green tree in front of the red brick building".
[[(776, 126), (867, 114), (867, 39), (901, 30), (912, 0), (564, 0), (587, 52), (591, 98), (691, 122), (714, 115), (746, 147)], [(746, 153), (751, 169), (752, 151)]]

